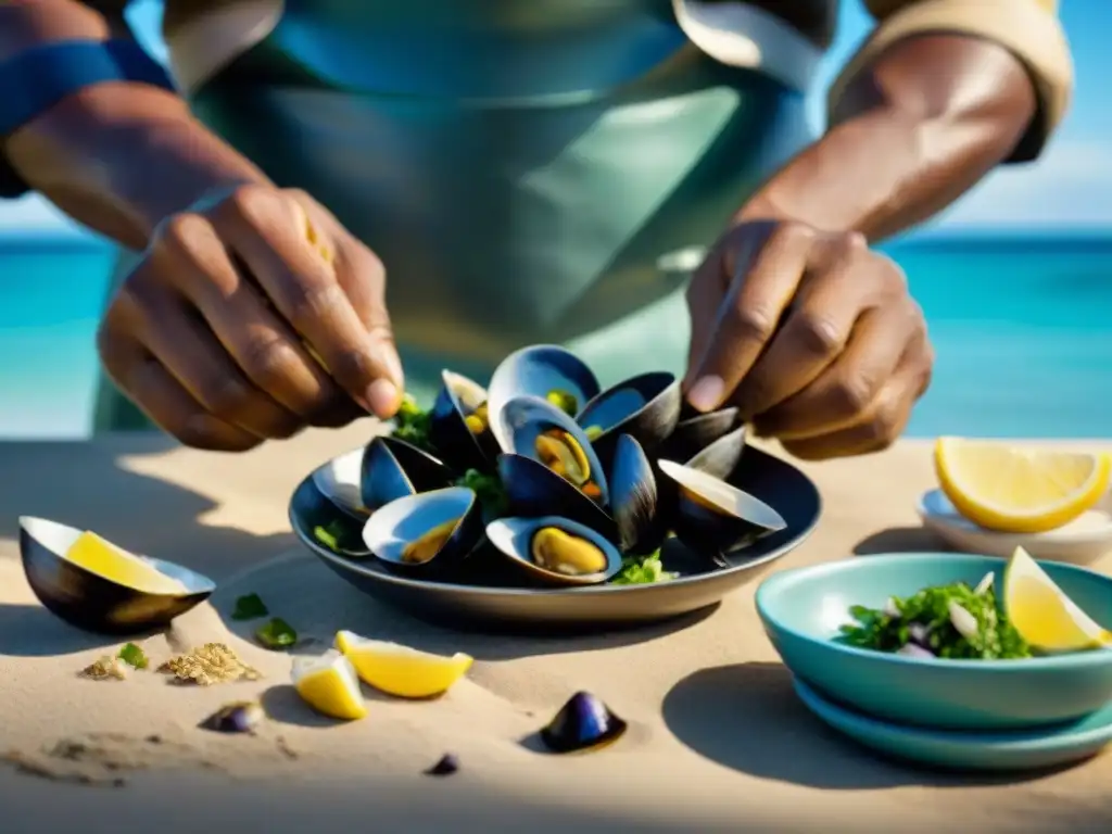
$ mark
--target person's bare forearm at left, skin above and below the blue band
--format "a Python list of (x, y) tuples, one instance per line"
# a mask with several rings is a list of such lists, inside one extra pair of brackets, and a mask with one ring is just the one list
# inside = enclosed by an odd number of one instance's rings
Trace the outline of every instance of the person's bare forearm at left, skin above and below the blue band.
[[(122, 19), (76, 0), (0, 3), (0, 61), (44, 43), (121, 36), (128, 37)], [(163, 218), (207, 191), (266, 181), (185, 101), (147, 85), (89, 87), (0, 141), (31, 188), (136, 249)]]

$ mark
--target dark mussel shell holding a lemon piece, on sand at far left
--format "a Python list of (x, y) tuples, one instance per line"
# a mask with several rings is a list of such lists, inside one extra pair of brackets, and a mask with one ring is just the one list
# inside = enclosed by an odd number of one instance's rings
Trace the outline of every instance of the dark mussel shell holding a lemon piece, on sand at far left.
[(46, 518), (19, 519), (31, 590), (67, 623), (112, 635), (161, 628), (216, 588), (180, 565), (128, 553), (96, 534)]

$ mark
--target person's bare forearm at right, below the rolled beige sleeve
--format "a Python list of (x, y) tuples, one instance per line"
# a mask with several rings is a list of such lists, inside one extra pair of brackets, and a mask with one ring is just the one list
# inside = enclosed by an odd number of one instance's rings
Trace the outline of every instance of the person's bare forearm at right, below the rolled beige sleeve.
[(1026, 70), (1002, 47), (910, 38), (851, 82), (826, 135), (736, 219), (793, 219), (882, 239), (945, 208), (1006, 159), (1036, 110)]

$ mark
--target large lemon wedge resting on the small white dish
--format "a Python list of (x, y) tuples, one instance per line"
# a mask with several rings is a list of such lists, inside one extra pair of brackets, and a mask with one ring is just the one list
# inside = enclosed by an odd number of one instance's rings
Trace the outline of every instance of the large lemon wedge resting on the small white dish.
[(1005, 533), (1044, 533), (1101, 499), (1112, 460), (1100, 454), (940, 437), (934, 468), (942, 492), (974, 524)]

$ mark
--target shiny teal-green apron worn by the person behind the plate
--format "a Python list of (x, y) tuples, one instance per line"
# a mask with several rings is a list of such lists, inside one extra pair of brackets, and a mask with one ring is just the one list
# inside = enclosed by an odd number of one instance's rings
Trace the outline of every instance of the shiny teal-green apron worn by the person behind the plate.
[[(285, 7), (191, 106), (380, 256), (420, 399), (535, 342), (604, 384), (682, 373), (691, 269), (811, 138), (800, 92), (703, 54), (668, 0)], [(101, 386), (98, 429), (143, 425)]]

